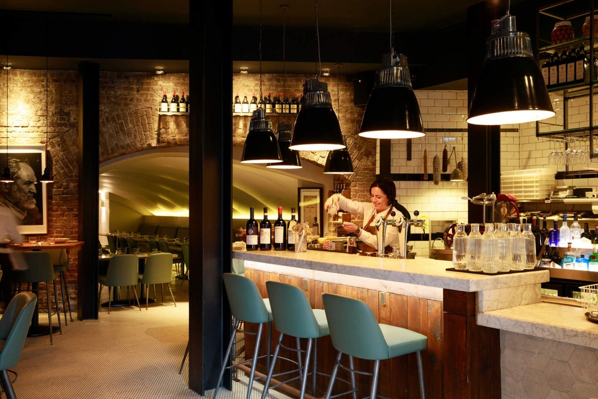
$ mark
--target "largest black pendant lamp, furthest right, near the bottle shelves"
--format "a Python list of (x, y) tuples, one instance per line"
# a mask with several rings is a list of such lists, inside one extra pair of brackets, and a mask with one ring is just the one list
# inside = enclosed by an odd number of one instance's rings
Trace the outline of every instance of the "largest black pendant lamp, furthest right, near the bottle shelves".
[(483, 125), (538, 121), (554, 116), (544, 78), (533, 57), (532, 41), (517, 32), (515, 17), (492, 21), (486, 56), (469, 106), (468, 123)]

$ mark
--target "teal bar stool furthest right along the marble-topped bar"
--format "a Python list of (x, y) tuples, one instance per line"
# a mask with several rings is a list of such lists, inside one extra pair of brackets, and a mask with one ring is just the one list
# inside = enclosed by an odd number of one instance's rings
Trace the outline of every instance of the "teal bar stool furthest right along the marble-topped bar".
[[(380, 324), (367, 303), (358, 299), (335, 294), (322, 294), (324, 310), (330, 327), (332, 345), (338, 355), (332, 370), (325, 399), (330, 399), (338, 367), (353, 373), (372, 376), (370, 398), (375, 399), (378, 390), (380, 360), (416, 353), (419, 390), (426, 397), (423, 383), (422, 351), (428, 348), (428, 337), (388, 324)], [(343, 354), (349, 355), (350, 367), (340, 361)], [(353, 368), (353, 357), (374, 360), (372, 373)]]

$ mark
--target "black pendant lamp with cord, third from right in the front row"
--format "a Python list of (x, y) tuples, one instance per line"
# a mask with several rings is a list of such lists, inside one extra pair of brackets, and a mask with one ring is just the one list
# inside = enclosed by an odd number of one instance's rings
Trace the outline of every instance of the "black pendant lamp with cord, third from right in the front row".
[[(320, 54), (320, 36), (318, 30), (318, 0), (316, 4), (316, 39), (318, 41), (318, 64), (316, 71), (322, 71)], [(308, 79), (303, 84), (301, 111), (295, 120), (295, 129), (291, 140), (291, 150), (295, 151), (331, 151), (344, 148), (343, 135), (340, 132), (338, 118), (332, 109), (332, 100), (328, 84), (315, 79)]]

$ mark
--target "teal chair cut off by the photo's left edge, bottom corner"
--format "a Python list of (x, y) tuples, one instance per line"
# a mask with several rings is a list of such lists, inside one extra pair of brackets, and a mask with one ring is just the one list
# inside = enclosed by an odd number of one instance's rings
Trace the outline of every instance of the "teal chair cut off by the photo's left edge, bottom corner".
[(0, 384), (7, 399), (16, 399), (8, 369), (19, 363), (36, 303), (35, 294), (19, 293), (11, 299), (0, 318)]

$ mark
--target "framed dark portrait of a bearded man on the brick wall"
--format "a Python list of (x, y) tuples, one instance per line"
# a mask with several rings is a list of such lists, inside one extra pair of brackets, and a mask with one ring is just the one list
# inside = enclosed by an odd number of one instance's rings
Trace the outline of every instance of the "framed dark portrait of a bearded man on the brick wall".
[(45, 184), (39, 182), (45, 167), (45, 148), (11, 146), (0, 150), (0, 170), (7, 166), (14, 182), (0, 182), (0, 206), (13, 213), (19, 221), (21, 234), (46, 234), (47, 198)]

